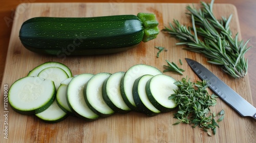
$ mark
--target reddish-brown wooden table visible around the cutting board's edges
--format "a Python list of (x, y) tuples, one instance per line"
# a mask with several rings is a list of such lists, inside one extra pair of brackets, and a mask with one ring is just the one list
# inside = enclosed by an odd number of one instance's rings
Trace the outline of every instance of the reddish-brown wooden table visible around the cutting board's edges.
[[(106, 3), (120, 3), (120, 2), (140, 2), (140, 3), (199, 3), (199, 1), (194, 1), (194, 0), (181, 0), (181, 1), (175, 1), (175, 0), (168, 0), (168, 1), (125, 1), (125, 0), (101, 0), (101, 1), (42, 1), (42, 0), (20, 0), (20, 1), (7, 1), (3, 2), (2, 5), (0, 6), (0, 16), (1, 16), (1, 21), (0, 21), (0, 46), (2, 48), (0, 52), (0, 84), (2, 83), (2, 78), (3, 78), (3, 73), (4, 73), (4, 68), (5, 62), (6, 62), (6, 54), (7, 54), (7, 49), (9, 45), (9, 40), (10, 40), (10, 34), (12, 30), (12, 20), (14, 19), (14, 10), (17, 7), (18, 4), (20, 3), (44, 3), (44, 2), (106, 2)], [(240, 31), (242, 38), (244, 40), (250, 39), (249, 45), (255, 45), (256, 44), (256, 36), (254, 34), (256, 33), (256, 26), (255, 26), (255, 17), (254, 13), (256, 10), (254, 10), (256, 6), (256, 1), (254, 0), (247, 0), (247, 1), (240, 1), (240, 0), (216, 0), (215, 3), (224, 3), (224, 4), (233, 4), (236, 6), (237, 11), (238, 11), (238, 17), (239, 17), (239, 23), (240, 23)], [(252, 49), (246, 54), (246, 58), (248, 58), (249, 65), (248, 65), (248, 76), (250, 80), (250, 89), (252, 93), (252, 101), (256, 103), (256, 96), (254, 93), (256, 92), (255, 85), (256, 85), (256, 77), (253, 75), (256, 70), (256, 57), (253, 56), (256, 54), (256, 49), (252, 47)], [(2, 92), (2, 91), (1, 91)], [(2, 122), (2, 121), (1, 121)], [(2, 124), (2, 123), (1, 123)], [(248, 125), (249, 126), (249, 125)], [(0, 129), (2, 130), (2, 129)], [(253, 135), (252, 135), (253, 136)]]

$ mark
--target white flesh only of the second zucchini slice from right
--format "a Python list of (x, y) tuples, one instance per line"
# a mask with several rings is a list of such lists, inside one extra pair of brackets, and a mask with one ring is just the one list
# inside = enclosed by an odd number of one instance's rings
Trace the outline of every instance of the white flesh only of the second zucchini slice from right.
[[(146, 94), (146, 83), (148, 80), (150, 80), (153, 76), (152, 75), (144, 75), (141, 78), (139, 78), (138, 80), (138, 84), (137, 86), (137, 92), (138, 92), (138, 96), (139, 96), (139, 100), (142, 102), (142, 104), (149, 109), (151, 112), (153, 113), (160, 113), (160, 111), (150, 102), (150, 100), (147, 98), (147, 94)], [(136, 88), (136, 87), (135, 87)], [(135, 94), (134, 94), (135, 95)], [(138, 105), (138, 104), (136, 104)], [(139, 106), (143, 106), (143, 105), (138, 105)], [(143, 107), (142, 107), (143, 108)], [(143, 112), (143, 111), (142, 111)], [(145, 111), (144, 111), (145, 112)], [(148, 114), (148, 113), (147, 113)]]

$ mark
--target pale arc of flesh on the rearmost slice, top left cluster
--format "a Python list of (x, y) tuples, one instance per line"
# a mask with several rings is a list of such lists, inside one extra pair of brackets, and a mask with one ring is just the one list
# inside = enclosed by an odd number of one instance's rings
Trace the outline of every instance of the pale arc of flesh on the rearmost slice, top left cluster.
[(29, 71), (28, 76), (37, 76), (41, 70), (48, 68), (48, 67), (59, 67), (66, 71), (69, 78), (72, 77), (72, 73), (71, 73), (71, 70), (69, 69), (69, 67), (62, 63), (59, 63), (59, 62), (46, 62), (46, 63), (40, 64), (37, 67), (35, 67), (34, 69), (32, 69), (31, 71)]

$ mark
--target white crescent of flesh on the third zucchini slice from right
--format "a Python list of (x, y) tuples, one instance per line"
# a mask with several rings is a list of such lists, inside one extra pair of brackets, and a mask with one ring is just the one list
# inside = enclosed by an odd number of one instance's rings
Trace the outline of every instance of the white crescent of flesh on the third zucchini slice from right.
[(134, 81), (143, 76), (143, 75), (159, 75), (162, 72), (156, 67), (145, 65), (145, 64), (137, 64), (130, 67), (121, 82), (121, 93), (124, 98), (125, 103), (132, 109), (136, 108), (134, 99), (133, 99), (133, 84)]

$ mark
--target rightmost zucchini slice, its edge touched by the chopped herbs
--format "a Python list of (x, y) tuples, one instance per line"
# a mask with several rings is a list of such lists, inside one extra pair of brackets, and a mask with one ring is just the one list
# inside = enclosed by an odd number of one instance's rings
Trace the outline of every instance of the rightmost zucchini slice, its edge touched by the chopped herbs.
[(146, 83), (146, 94), (151, 103), (161, 112), (173, 110), (177, 104), (173, 100), (169, 100), (170, 94), (174, 90), (178, 90), (174, 84), (175, 79), (167, 75), (157, 75)]

